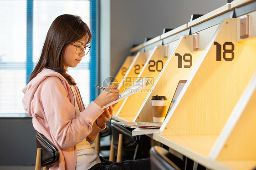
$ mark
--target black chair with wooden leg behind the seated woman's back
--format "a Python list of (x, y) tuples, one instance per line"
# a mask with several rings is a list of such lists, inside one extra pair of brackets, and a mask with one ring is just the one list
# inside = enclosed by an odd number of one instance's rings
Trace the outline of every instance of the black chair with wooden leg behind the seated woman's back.
[(36, 170), (53, 165), (59, 160), (59, 150), (44, 135), (36, 131)]

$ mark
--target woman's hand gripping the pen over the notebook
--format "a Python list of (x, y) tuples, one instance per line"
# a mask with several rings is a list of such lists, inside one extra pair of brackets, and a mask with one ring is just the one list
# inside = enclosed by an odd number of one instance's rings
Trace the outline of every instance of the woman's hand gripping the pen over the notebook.
[(102, 93), (94, 100), (94, 103), (103, 107), (108, 103), (117, 100), (119, 98), (119, 90), (117, 85), (109, 85), (102, 91)]

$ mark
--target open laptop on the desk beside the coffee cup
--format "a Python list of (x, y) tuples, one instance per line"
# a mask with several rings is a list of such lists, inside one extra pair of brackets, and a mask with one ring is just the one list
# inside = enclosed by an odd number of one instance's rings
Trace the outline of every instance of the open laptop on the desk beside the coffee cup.
[[(174, 96), (173, 96), (172, 101), (169, 105), (169, 109), (167, 111), (166, 116), (168, 115), (171, 108), (173, 107), (175, 101), (177, 100), (177, 98), (178, 98), (181, 90), (183, 89), (184, 85), (186, 84), (186, 82), (187, 82), (187, 80), (179, 80), (179, 83), (178, 83), (178, 85), (176, 87), (176, 90), (174, 92)], [(166, 116), (165, 116), (165, 118), (166, 118)], [(117, 124), (129, 127), (129, 128), (143, 127), (143, 128), (157, 128), (157, 129), (159, 129), (161, 127), (161, 125), (163, 124), (163, 122), (118, 122)]]

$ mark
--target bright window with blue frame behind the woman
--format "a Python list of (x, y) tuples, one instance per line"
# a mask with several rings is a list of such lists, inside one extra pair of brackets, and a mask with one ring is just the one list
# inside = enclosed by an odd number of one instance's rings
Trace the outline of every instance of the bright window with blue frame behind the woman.
[(68, 74), (76, 80), (84, 105), (95, 99), (96, 90), (90, 85), (97, 83), (96, 0), (1, 0), (0, 117), (27, 116), (21, 90), (41, 55), (52, 21), (62, 14), (79, 15), (91, 28), (92, 49)]

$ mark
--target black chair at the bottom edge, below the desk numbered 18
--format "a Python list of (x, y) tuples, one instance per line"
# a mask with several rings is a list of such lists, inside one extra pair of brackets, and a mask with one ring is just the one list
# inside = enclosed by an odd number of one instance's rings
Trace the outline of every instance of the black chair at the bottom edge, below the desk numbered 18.
[(150, 149), (151, 170), (184, 170), (184, 162), (168, 150), (153, 146)]

